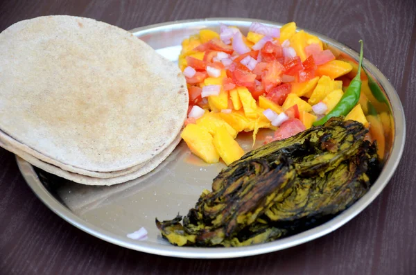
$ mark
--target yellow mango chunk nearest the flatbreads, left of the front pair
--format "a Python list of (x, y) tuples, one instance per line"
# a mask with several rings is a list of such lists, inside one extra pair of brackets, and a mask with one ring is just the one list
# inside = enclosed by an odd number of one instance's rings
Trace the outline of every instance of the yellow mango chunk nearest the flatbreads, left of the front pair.
[(188, 124), (180, 134), (187, 143), (189, 150), (207, 163), (217, 163), (220, 160), (213, 141), (213, 137), (204, 127)]

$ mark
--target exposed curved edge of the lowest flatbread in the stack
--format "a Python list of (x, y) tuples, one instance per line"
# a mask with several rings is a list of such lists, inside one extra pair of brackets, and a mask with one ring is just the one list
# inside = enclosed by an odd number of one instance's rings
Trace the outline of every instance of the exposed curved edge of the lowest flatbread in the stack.
[(33, 166), (36, 166), (37, 168), (40, 168), (53, 175), (57, 175), (58, 177), (69, 179), (70, 181), (77, 182), (78, 184), (110, 186), (114, 184), (121, 184), (123, 182), (130, 181), (132, 179), (137, 179), (138, 177), (146, 175), (148, 172), (157, 168), (157, 166), (159, 166), (159, 164), (162, 163), (162, 161), (164, 161), (166, 157), (168, 157), (169, 154), (171, 154), (171, 152), (173, 152), (173, 150), (175, 149), (177, 144), (180, 143), (180, 141), (181, 141), (181, 137), (180, 135), (178, 135), (175, 137), (173, 142), (168, 145), (167, 148), (162, 150), (162, 152), (157, 154), (156, 157), (154, 157), (153, 159), (150, 159), (150, 161), (147, 161), (146, 164), (139, 170), (135, 172), (131, 172), (130, 174), (127, 174), (127, 175), (122, 175), (119, 177), (112, 177), (109, 179), (87, 177), (84, 175), (79, 175), (76, 173), (68, 172), (56, 166), (53, 166), (49, 163), (40, 161), (39, 159), (36, 159), (35, 157), (31, 156), (31, 154), (27, 154), (26, 152), (19, 151), (16, 148), (11, 148), (8, 145), (2, 143), (1, 141), (0, 141), (0, 146), (3, 148), (6, 148), (6, 150), (9, 150), (10, 152), (17, 154), (17, 156), (21, 157), (25, 161), (28, 161), (28, 163), (31, 163)]

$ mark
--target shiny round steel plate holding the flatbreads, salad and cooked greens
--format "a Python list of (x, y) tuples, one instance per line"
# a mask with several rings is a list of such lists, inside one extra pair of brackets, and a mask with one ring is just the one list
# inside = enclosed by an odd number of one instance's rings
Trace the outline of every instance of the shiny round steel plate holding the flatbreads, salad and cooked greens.
[[(175, 62), (180, 53), (182, 39), (197, 33), (199, 29), (218, 30), (218, 23), (222, 22), (246, 31), (252, 21), (225, 18), (175, 21), (136, 28), (131, 32)], [(262, 22), (281, 26), (270, 21)], [(334, 49), (358, 60), (358, 54), (351, 48), (323, 35), (314, 34)], [(238, 248), (193, 248), (175, 247), (161, 238), (155, 227), (155, 218), (168, 220), (174, 218), (177, 213), (186, 215), (202, 190), (211, 189), (212, 179), (224, 167), (221, 163), (206, 165), (194, 157), (183, 142), (153, 172), (128, 183), (110, 187), (75, 184), (38, 170), (18, 157), (17, 163), (33, 192), (53, 212), (79, 229), (121, 247), (182, 258), (235, 258), (286, 249), (324, 236), (354, 218), (381, 193), (397, 168), (406, 136), (403, 108), (399, 96), (387, 78), (367, 60), (364, 60), (363, 66), (379, 81), (388, 98), (388, 103), (376, 105), (377, 112), (385, 112), (385, 115), (391, 118), (389, 126), (385, 126), (388, 129), (384, 129), (385, 161), (379, 179), (363, 198), (336, 218), (274, 242)], [(239, 136), (239, 139), (248, 150), (250, 135)], [(148, 231), (146, 240), (132, 240), (126, 236), (141, 227)]]

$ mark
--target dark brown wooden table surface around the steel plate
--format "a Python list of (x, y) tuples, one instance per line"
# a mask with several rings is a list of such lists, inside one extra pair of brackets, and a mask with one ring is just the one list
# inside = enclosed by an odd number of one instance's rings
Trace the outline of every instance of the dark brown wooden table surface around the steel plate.
[[(383, 193), (344, 227), (304, 245), (227, 260), (144, 254), (89, 236), (46, 208), (0, 148), (0, 274), (416, 274), (416, 1), (0, 1), (0, 30), (41, 15), (92, 17), (127, 30), (203, 17), (295, 21), (358, 50), (404, 105), (404, 156)], [(0, 60), (1, 62), (1, 60)]]

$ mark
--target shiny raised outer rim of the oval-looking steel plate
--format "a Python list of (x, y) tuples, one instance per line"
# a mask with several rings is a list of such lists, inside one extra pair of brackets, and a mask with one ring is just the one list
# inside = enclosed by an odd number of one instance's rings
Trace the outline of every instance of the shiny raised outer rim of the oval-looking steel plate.
[[(171, 26), (175, 28), (184, 28), (193, 24), (201, 24), (202, 22), (213, 23), (227, 23), (227, 22), (252, 22), (257, 21), (264, 24), (270, 24), (273, 26), (283, 26), (283, 24), (274, 21), (266, 21), (261, 19), (250, 19), (250, 18), (239, 18), (239, 17), (215, 17), (215, 18), (205, 18), (205, 19), (187, 19), (179, 21), (168, 21), (159, 24), (153, 24), (149, 26), (142, 26), (139, 28), (133, 28), (130, 32), (135, 36), (144, 35), (150, 33), (151, 31), (156, 31), (160, 28), (166, 28), (166, 26)], [(299, 30), (300, 28), (298, 28)], [(314, 31), (307, 30), (302, 28), (309, 33), (318, 35), (321, 39), (329, 44), (341, 48), (345, 53), (351, 55), (355, 59), (358, 57), (358, 53), (349, 46), (337, 42), (334, 39), (331, 39), (320, 33), (315, 33)], [(33, 166), (30, 163), (24, 161), (23, 159), (16, 156), (17, 165), (21, 174), (23, 175), (28, 186), (33, 190), (33, 193), (55, 214), (60, 216), (63, 220), (69, 222), (73, 226), (77, 227), (89, 233), (96, 238), (105, 240), (114, 245), (119, 245), (128, 249), (133, 249), (149, 254), (156, 254), (160, 256), (172, 256), (177, 258), (240, 258), (245, 256), (254, 256), (259, 254), (266, 254), (272, 251), (278, 251), (282, 249), (287, 249), (300, 245), (304, 242), (309, 242), (311, 240), (320, 238), (322, 236), (335, 231), (336, 229), (342, 227), (344, 224), (352, 220), (359, 213), (361, 213), (374, 199), (381, 193), (385, 186), (390, 181), (392, 175), (394, 175), (397, 170), (397, 166), (400, 163), (401, 156), (404, 151), (404, 145), (406, 140), (406, 119), (404, 116), (404, 109), (397, 94), (396, 89), (391, 85), (390, 81), (368, 60), (364, 58), (363, 66), (368, 69), (371, 73), (377, 76), (378, 80), (381, 82), (381, 85), (384, 87), (386, 94), (389, 98), (390, 105), (392, 107), (392, 114), (395, 118), (395, 136), (394, 142), (392, 145), (392, 151), (387, 161), (385, 161), (385, 166), (381, 172), (379, 178), (374, 182), (372, 188), (356, 203), (350, 206), (348, 209), (342, 213), (336, 215), (335, 218), (332, 218), (328, 222), (314, 227), (312, 229), (303, 231), (302, 233), (295, 234), (286, 238), (275, 240), (272, 242), (267, 242), (260, 245), (251, 245), (248, 247), (216, 247), (216, 248), (200, 248), (200, 247), (176, 247), (173, 245), (162, 245), (162, 244), (152, 244), (146, 245), (144, 242), (126, 242), (121, 240), (119, 235), (111, 233), (100, 229), (99, 227), (94, 226), (94, 224), (89, 224), (85, 220), (79, 218), (69, 209), (65, 208), (58, 199), (55, 199), (51, 193), (46, 190), (45, 186), (40, 182), (40, 179), (37, 177)], [(387, 92), (389, 91), (389, 93)], [(390, 93), (391, 91), (391, 93)], [(103, 233), (104, 232), (104, 233)]]

